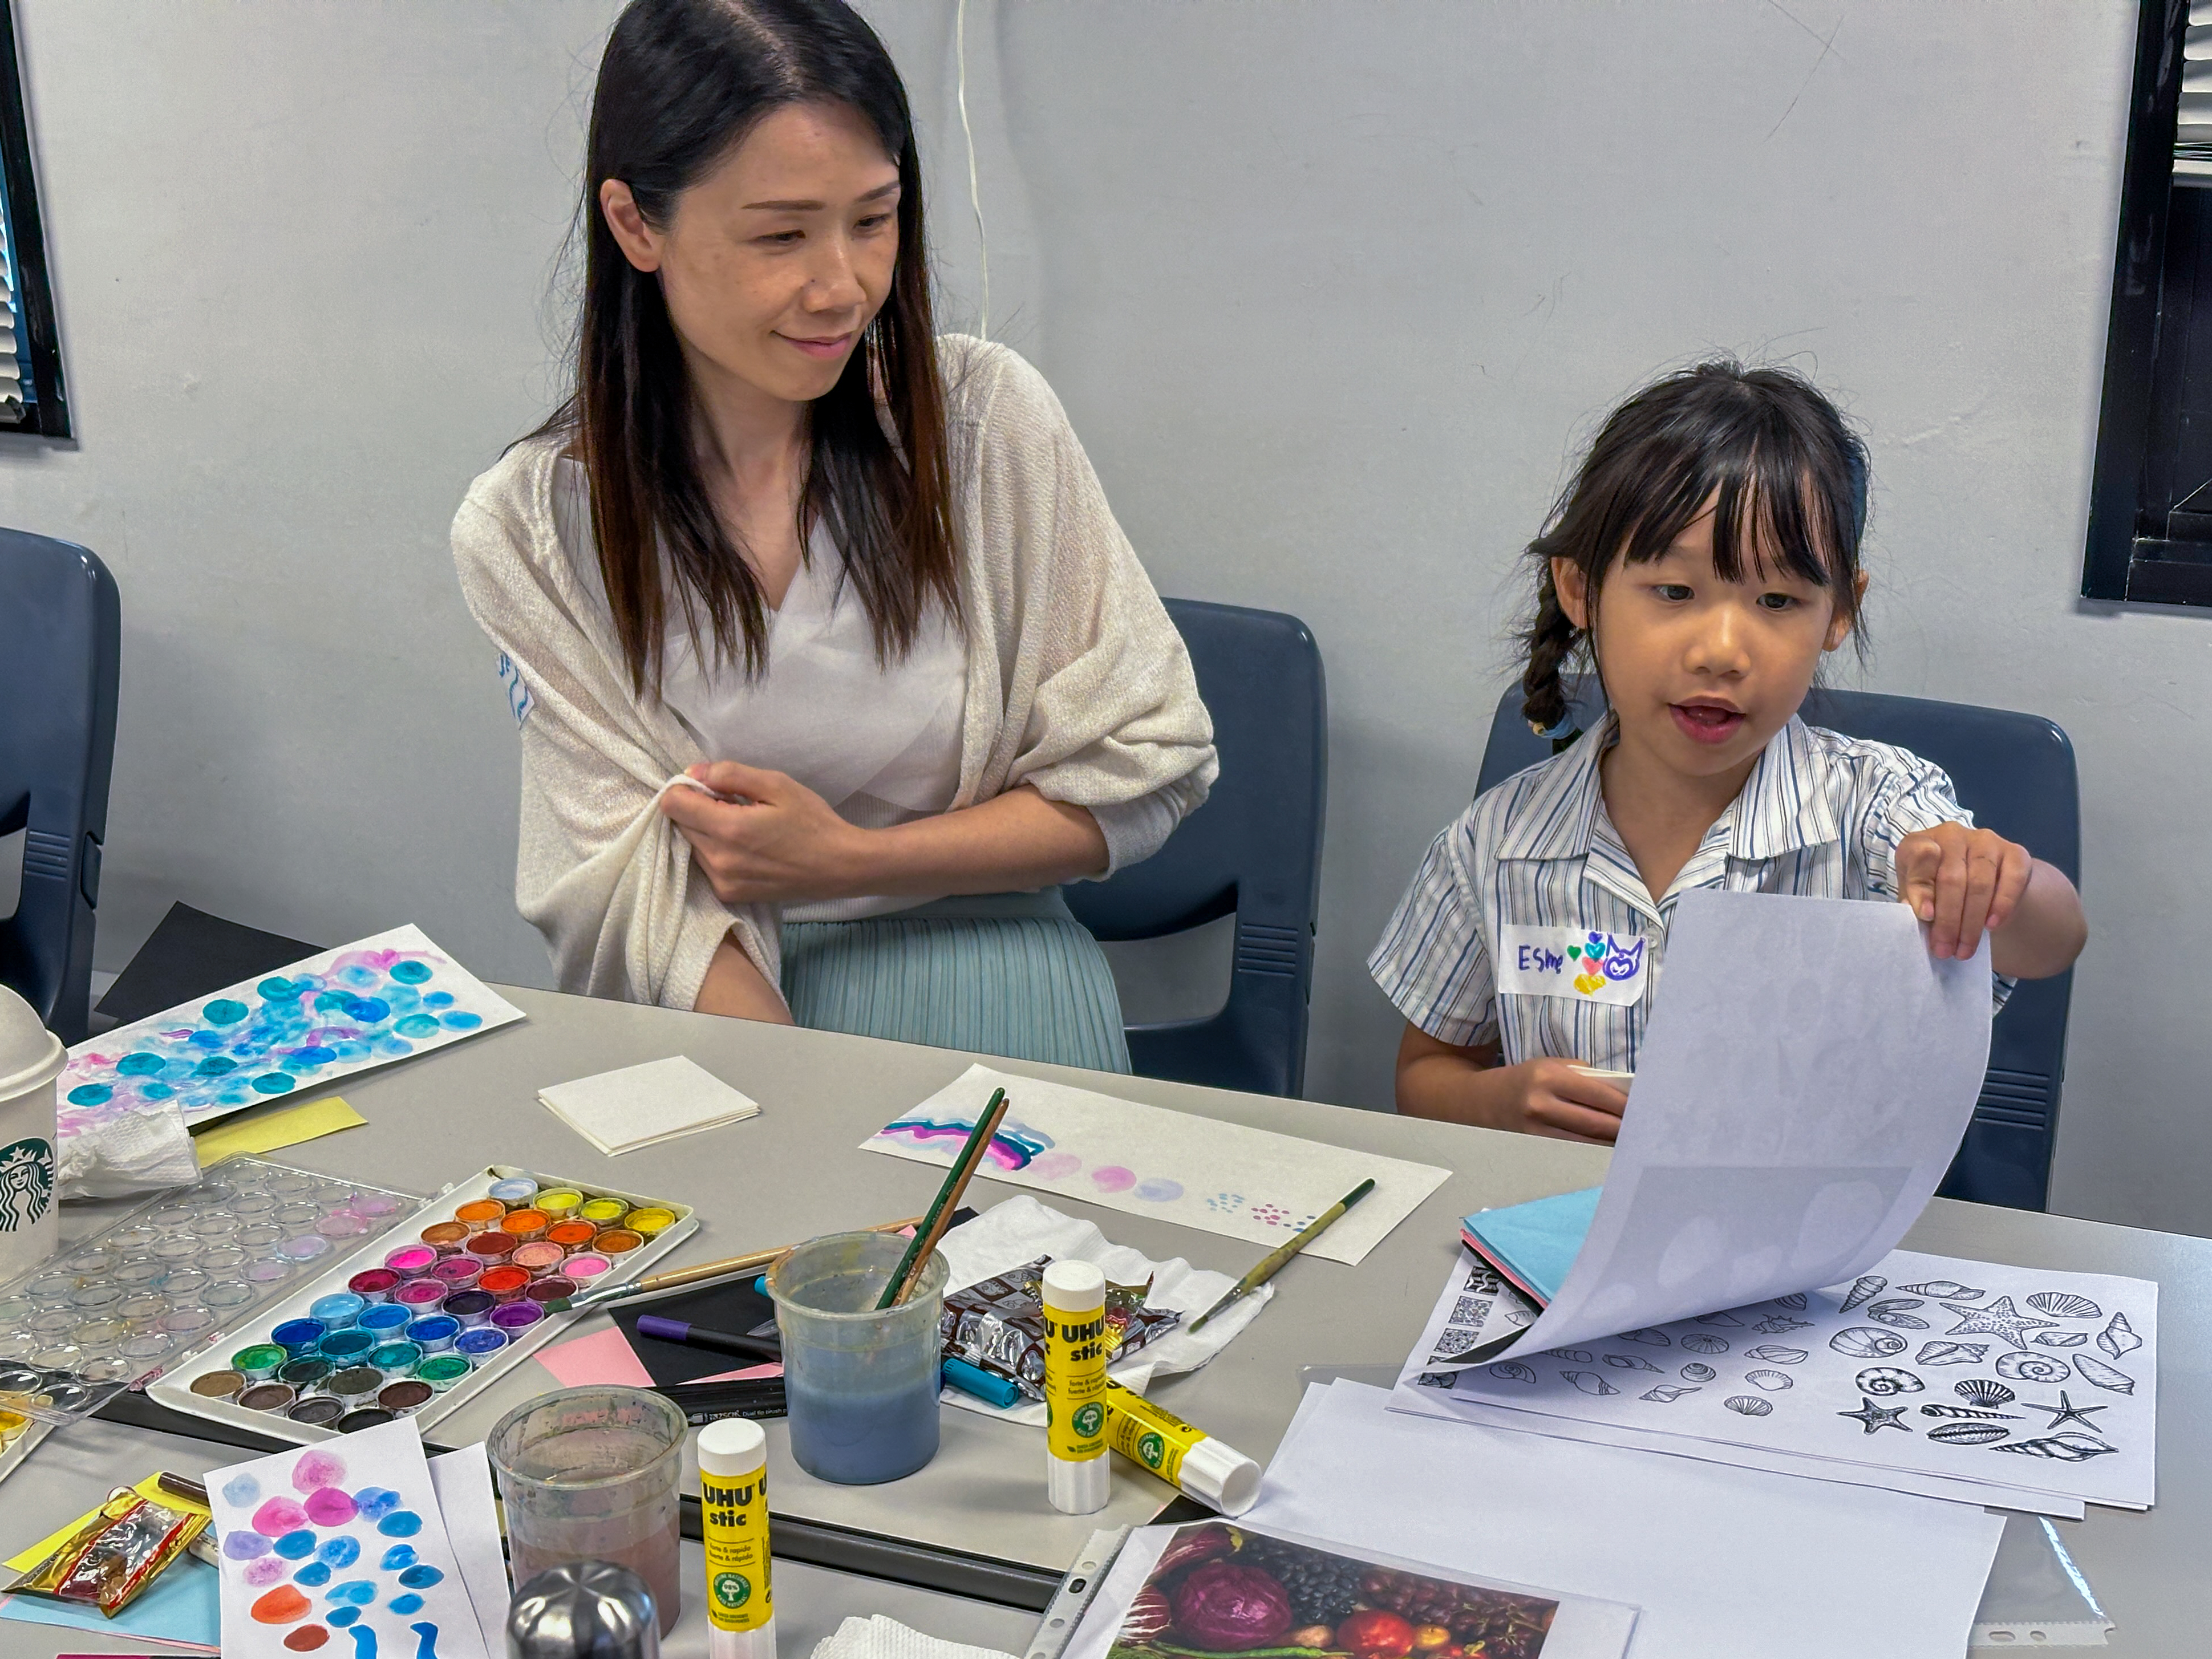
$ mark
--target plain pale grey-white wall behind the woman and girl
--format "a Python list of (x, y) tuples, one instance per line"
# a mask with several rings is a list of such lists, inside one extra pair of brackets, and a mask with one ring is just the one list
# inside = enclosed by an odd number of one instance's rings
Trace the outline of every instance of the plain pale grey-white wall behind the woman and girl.
[[(953, 4), (867, 11), (973, 321)], [(0, 453), (0, 518), (124, 588), (106, 967), (184, 896), (325, 940), (411, 916), (542, 982), (445, 524), (553, 389), (611, 15), (20, 0), (84, 438)], [(993, 332), (1164, 591), (1294, 611), (1327, 657), (1312, 1095), (1389, 1099), (1360, 956), (1471, 790), (1568, 447), (1661, 365), (1785, 356), (1874, 442), (1865, 684), (2079, 745), (2095, 940), (2055, 1206), (2212, 1232), (2212, 619), (2073, 597), (2132, 15), (969, 0)], [(2139, 967), (2139, 936), (2172, 945)]]

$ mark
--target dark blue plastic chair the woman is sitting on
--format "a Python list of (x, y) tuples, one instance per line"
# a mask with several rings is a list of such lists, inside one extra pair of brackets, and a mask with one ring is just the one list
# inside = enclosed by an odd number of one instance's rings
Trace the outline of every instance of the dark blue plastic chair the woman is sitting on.
[(1130, 1064), (1146, 1077), (1296, 1095), (1329, 781), (1321, 650), (1303, 622), (1276, 611), (1168, 599), (1168, 615), (1214, 717), (1221, 779), (1152, 858), (1062, 891), (1102, 940), (1161, 938), (1234, 914), (1223, 1009), (1130, 1026)]

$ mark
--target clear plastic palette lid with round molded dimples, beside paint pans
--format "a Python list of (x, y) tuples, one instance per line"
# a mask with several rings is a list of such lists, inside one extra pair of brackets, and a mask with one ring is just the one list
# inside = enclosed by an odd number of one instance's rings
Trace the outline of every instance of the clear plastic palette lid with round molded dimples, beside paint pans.
[(420, 1203), (239, 1155), (0, 1285), (0, 1453), (24, 1418), (97, 1411)]

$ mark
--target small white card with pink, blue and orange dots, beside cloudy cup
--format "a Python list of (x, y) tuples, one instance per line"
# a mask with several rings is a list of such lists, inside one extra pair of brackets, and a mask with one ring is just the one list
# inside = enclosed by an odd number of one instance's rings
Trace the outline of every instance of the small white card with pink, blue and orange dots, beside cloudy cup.
[(208, 1475), (226, 1659), (489, 1659), (400, 1418)]

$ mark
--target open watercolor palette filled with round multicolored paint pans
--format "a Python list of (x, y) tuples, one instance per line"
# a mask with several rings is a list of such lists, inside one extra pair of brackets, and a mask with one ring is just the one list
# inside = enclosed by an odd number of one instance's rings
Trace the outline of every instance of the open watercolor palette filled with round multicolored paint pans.
[(697, 1228), (688, 1203), (493, 1164), (146, 1391), (303, 1444), (403, 1416), (429, 1429), (575, 1321), (549, 1303), (637, 1276)]

